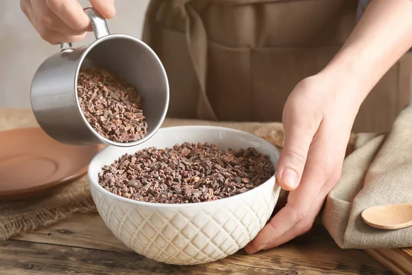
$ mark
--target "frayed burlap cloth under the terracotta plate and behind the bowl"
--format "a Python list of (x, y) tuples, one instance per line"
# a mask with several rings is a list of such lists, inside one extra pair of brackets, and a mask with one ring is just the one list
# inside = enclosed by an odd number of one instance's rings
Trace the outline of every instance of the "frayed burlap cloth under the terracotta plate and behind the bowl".
[[(282, 146), (284, 139), (282, 123), (205, 122), (167, 119), (162, 126), (190, 124), (217, 125), (249, 131), (264, 137), (279, 147)], [(38, 126), (32, 111), (0, 109), (0, 131), (27, 126)], [(282, 192), (282, 196), (284, 195), (286, 193)], [(39, 226), (56, 223), (73, 212), (93, 211), (95, 211), (95, 205), (91, 198), (86, 176), (54, 189), (53, 192), (43, 198), (27, 199), (19, 202), (0, 201), (0, 240), (8, 239), (21, 231), (35, 230)]]

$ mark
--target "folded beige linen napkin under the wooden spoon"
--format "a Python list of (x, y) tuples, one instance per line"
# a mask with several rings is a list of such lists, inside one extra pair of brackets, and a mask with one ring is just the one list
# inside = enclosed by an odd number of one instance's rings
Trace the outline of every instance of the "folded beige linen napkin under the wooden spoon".
[(359, 134), (355, 148), (328, 195), (326, 229), (341, 248), (412, 246), (412, 227), (379, 230), (361, 217), (371, 206), (412, 203), (412, 106), (400, 113), (390, 133)]

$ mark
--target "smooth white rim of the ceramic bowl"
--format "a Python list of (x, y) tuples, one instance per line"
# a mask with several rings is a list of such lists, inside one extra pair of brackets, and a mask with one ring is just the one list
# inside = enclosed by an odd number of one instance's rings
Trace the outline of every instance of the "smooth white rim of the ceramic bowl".
[[(159, 131), (157, 131), (156, 134), (160, 135), (165, 131), (178, 131), (178, 130), (185, 130), (185, 129), (189, 129), (189, 128), (191, 130), (213, 129), (213, 130), (221, 130), (221, 131), (226, 131), (226, 132), (231, 132), (231, 133), (242, 133), (242, 135), (246, 135), (247, 137), (251, 137), (251, 138), (253, 138), (253, 140), (262, 142), (263, 144), (268, 145), (269, 147), (271, 147), (273, 149), (272, 153), (274, 153), (276, 155), (277, 159), (279, 159), (280, 151), (275, 145), (271, 144), (271, 142), (268, 142), (267, 140), (265, 140), (262, 137), (258, 137), (258, 135), (253, 135), (252, 133), (249, 133), (247, 131), (241, 131), (241, 130), (238, 130), (238, 129), (232, 129), (232, 128), (222, 127), (222, 126), (209, 126), (209, 125), (185, 125), (185, 126), (164, 127), (164, 128), (159, 129)], [(142, 146), (142, 145), (144, 145), (144, 144), (137, 144), (135, 146)], [(128, 147), (128, 148), (133, 148), (135, 146)], [(190, 207), (190, 206), (216, 206), (219, 203), (226, 203), (227, 204), (227, 203), (230, 203), (230, 201), (235, 201), (235, 200), (239, 200), (239, 199), (242, 199), (244, 197), (247, 197), (247, 196), (255, 195), (256, 193), (261, 192), (262, 189), (267, 188), (267, 186), (269, 184), (271, 184), (273, 181), (274, 181), (273, 190), (275, 192), (277, 192), (277, 190), (280, 189), (280, 186), (279, 186), (279, 184), (277, 184), (276, 177), (275, 177), (276, 168), (277, 168), (275, 166), (275, 173), (269, 179), (264, 181), (264, 183), (260, 184), (260, 186), (255, 187), (251, 190), (247, 190), (246, 192), (243, 192), (243, 193), (238, 194), (238, 195), (233, 195), (231, 197), (225, 197), (225, 198), (222, 198), (222, 199), (216, 199), (216, 201), (201, 201), (201, 202), (194, 202), (194, 203), (153, 203), (153, 202), (146, 202), (146, 201), (135, 201), (134, 199), (127, 199), (125, 197), (115, 195), (112, 192), (104, 189), (102, 186), (100, 186), (98, 181), (95, 181), (92, 178), (92, 175), (91, 175), (91, 169), (93, 168), (93, 163), (95, 162), (95, 159), (98, 159), (102, 153), (112, 149), (113, 147), (115, 147), (115, 146), (106, 146), (106, 148), (102, 149), (97, 155), (95, 155), (95, 157), (93, 157), (93, 159), (91, 159), (91, 162), (89, 164), (89, 168), (87, 169), (87, 178), (89, 179), (89, 186), (95, 187), (96, 190), (98, 190), (99, 192), (102, 192), (103, 195), (111, 197), (112, 199), (115, 199), (115, 200), (118, 200), (118, 201), (124, 201), (125, 203), (132, 203), (136, 206), (149, 206), (149, 207), (158, 207), (158, 208), (181, 208), (181, 207), (186, 207), (187, 208), (187, 207)], [(122, 147), (122, 148), (124, 148), (124, 147)]]

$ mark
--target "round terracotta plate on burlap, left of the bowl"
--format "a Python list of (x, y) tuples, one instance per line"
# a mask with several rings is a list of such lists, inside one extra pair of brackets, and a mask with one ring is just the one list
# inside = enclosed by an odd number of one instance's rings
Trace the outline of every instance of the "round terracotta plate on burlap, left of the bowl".
[(81, 177), (98, 151), (60, 144), (41, 128), (0, 132), (0, 198), (25, 199)]

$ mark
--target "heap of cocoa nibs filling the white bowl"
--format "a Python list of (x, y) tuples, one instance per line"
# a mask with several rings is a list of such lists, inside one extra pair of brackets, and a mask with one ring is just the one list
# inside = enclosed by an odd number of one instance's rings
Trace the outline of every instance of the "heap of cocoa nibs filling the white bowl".
[(185, 142), (145, 148), (104, 166), (99, 183), (115, 195), (154, 203), (214, 201), (251, 190), (275, 173), (255, 148), (222, 150)]

